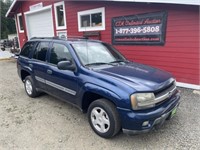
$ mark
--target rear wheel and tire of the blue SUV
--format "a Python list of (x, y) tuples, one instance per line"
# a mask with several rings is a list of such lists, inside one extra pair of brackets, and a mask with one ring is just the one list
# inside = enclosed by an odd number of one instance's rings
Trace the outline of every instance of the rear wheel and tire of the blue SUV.
[(31, 76), (27, 76), (24, 80), (24, 88), (26, 91), (26, 94), (29, 97), (35, 98), (37, 96), (39, 96), (39, 92), (36, 90), (35, 84), (33, 82), (33, 79), (31, 78)]

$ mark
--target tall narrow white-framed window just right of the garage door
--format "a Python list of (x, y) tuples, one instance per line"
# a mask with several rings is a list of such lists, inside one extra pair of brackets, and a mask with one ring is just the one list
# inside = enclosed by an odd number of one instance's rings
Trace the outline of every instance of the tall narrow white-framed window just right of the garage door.
[(54, 13), (56, 18), (56, 29), (66, 29), (65, 3), (54, 4)]

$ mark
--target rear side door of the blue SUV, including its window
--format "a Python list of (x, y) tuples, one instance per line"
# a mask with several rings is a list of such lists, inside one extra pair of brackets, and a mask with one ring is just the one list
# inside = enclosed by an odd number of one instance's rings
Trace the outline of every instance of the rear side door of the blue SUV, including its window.
[(47, 52), (49, 49), (49, 42), (41, 41), (33, 52), (32, 60), (29, 62), (29, 66), (33, 70), (33, 74), (36, 80), (36, 87), (46, 91), (46, 70), (48, 62)]

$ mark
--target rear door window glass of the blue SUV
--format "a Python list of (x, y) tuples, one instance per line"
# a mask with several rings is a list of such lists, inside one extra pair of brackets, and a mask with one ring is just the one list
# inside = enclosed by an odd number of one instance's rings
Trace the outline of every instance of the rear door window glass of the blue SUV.
[(48, 47), (49, 47), (49, 42), (40, 42), (36, 47), (36, 50), (33, 54), (33, 58), (45, 61)]

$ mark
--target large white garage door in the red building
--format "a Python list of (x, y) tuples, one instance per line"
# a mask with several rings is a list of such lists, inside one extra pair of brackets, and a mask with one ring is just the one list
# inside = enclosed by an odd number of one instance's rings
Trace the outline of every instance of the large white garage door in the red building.
[(51, 9), (26, 14), (26, 23), (28, 39), (32, 37), (54, 36)]

